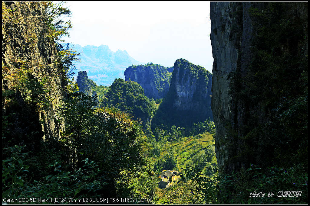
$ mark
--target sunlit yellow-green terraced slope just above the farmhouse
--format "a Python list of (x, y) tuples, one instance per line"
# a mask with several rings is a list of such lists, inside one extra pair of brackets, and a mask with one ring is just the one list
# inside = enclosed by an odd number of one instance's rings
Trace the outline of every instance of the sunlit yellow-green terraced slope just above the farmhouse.
[(164, 136), (153, 144), (153, 153), (158, 157), (155, 165), (155, 170), (158, 172), (163, 169), (184, 172), (186, 167), (194, 166), (200, 167), (207, 174), (207, 168), (216, 168), (214, 138), (209, 132), (189, 137), (182, 136), (173, 142)]

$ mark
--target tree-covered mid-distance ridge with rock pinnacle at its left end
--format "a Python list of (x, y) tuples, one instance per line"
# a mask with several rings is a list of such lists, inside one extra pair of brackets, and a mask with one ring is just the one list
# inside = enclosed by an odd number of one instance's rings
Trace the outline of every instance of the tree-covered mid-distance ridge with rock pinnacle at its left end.
[(150, 123), (155, 112), (155, 101), (150, 101), (144, 96), (144, 90), (133, 81), (115, 79), (110, 87), (97, 86), (88, 79), (86, 71), (79, 71), (77, 79), (80, 92), (96, 97), (98, 107), (115, 107), (123, 112), (132, 114), (142, 120), (144, 126)]

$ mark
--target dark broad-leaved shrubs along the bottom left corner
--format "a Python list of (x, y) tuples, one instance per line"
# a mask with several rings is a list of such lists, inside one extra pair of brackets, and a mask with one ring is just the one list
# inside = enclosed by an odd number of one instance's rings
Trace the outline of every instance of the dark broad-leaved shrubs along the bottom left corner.
[(99, 197), (97, 191), (107, 184), (100, 176), (98, 165), (83, 160), (83, 166), (76, 171), (61, 170), (60, 162), (55, 162), (47, 168), (53, 168), (54, 174), (39, 180), (31, 181), (28, 173), (29, 166), (24, 165), (27, 153), (22, 153), (23, 147), (5, 148), (10, 157), (2, 161), (2, 196), (10, 199), (25, 197), (75, 197), (76, 195), (92, 195)]

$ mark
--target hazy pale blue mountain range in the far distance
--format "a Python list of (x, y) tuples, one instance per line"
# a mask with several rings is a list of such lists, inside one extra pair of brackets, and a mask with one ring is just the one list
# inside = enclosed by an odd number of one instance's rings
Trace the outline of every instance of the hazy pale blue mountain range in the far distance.
[(74, 79), (77, 79), (78, 71), (86, 71), (89, 79), (98, 85), (109, 86), (116, 78), (125, 79), (124, 71), (127, 67), (144, 64), (129, 56), (126, 50), (113, 52), (108, 45), (82, 47), (70, 44), (70, 47), (81, 53), (79, 56), (81, 62), (74, 62), (78, 69), (75, 71)]

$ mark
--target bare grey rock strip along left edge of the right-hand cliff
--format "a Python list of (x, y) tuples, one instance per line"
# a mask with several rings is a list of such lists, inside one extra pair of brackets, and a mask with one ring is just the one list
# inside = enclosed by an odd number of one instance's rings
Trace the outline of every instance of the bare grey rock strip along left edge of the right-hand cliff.
[[(228, 149), (224, 144), (229, 138), (226, 125), (234, 120), (228, 75), (237, 70), (240, 60), (242, 8), (239, 2), (210, 2), (210, 39), (214, 58), (211, 108), (216, 127), (215, 153), (219, 171), (223, 171), (224, 162), (228, 160)], [(239, 12), (233, 16), (236, 11)]]

